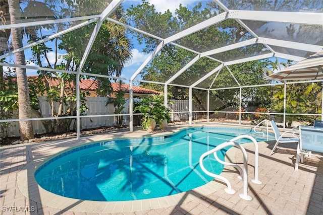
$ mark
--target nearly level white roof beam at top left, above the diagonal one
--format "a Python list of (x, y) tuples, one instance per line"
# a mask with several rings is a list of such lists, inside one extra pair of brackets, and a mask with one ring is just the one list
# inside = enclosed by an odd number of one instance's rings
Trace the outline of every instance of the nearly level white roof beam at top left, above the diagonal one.
[(62, 22), (74, 22), (74, 21), (84, 21), (84, 20), (91, 20), (91, 19), (98, 19), (100, 15), (93, 15), (93, 16), (86, 16), (86, 17), (73, 17), (73, 18), (66, 18), (66, 19), (56, 19), (56, 20), (45, 20), (45, 21), (37, 21), (37, 22), (26, 22), (26, 23), (17, 23), (17, 24), (10, 24), (10, 25), (0, 25), (0, 30), (4, 29), (12, 29), (12, 28), (25, 28), (30, 26), (39, 26), (39, 25), (49, 25), (55, 23), (62, 23)]

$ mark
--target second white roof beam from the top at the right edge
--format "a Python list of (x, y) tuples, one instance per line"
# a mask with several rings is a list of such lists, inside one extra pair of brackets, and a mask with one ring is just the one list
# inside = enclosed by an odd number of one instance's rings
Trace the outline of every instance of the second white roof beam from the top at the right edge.
[(315, 53), (320, 52), (323, 48), (320, 45), (311, 45), (311, 44), (306, 44), (306, 43), (271, 39), (271, 38), (265, 38), (265, 37), (259, 37), (257, 42), (261, 43), (261, 44), (275, 45), (275, 46), (280, 46), (280, 47), (285, 47), (285, 48), (292, 48), (292, 49), (298, 49), (298, 50), (304, 50), (304, 51), (312, 51)]

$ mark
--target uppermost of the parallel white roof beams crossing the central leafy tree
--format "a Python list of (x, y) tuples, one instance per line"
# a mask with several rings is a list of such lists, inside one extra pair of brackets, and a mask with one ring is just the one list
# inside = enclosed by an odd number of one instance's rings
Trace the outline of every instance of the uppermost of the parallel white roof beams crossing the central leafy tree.
[(178, 40), (180, 38), (183, 38), (183, 37), (185, 37), (187, 35), (190, 35), (190, 34), (193, 34), (193, 33), (197, 32), (197, 31), (200, 31), (200, 30), (202, 30), (204, 28), (208, 28), (209, 26), (215, 25), (215, 24), (217, 24), (219, 22), (222, 22), (222, 21), (226, 20), (227, 19), (226, 17), (227, 17), (227, 12), (223, 12), (223, 13), (215, 16), (215, 17), (212, 17), (212, 18), (210, 18), (208, 20), (200, 22), (200, 23), (198, 23), (198, 24), (196, 24), (196, 25), (194, 25), (194, 26), (192, 26), (192, 27), (190, 27), (188, 29), (185, 29), (185, 30), (183, 30), (183, 31), (181, 31), (179, 33), (176, 33), (176, 34), (166, 38), (165, 43), (173, 42), (173, 41)]

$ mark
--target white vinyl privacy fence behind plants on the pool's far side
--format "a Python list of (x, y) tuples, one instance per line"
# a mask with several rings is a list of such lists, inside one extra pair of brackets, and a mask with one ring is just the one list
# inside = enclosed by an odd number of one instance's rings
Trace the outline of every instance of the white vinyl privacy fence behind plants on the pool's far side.
[[(48, 102), (46, 102), (45, 96), (39, 96), (40, 107), (43, 117), (51, 117), (51, 108)], [(112, 104), (106, 104), (105, 97), (87, 97), (86, 105), (88, 111), (85, 115), (104, 115), (104, 114), (114, 114), (114, 106)], [(171, 112), (175, 112), (171, 115), (172, 121), (178, 120), (188, 120), (188, 100), (172, 100), (173, 104), (169, 106)], [(58, 103), (56, 104), (56, 109), (58, 109)], [(64, 107), (67, 108), (67, 107)], [(198, 111), (197, 105), (193, 103), (193, 110)], [(129, 99), (126, 101), (124, 112), (125, 114), (129, 113)], [(33, 116), (36, 117), (36, 116)], [(13, 118), (18, 118), (18, 113), (15, 114)], [(129, 116), (123, 117), (124, 125), (129, 125)], [(73, 120), (75, 122), (75, 120)], [(32, 121), (34, 133), (45, 133), (45, 128), (43, 127), (40, 120)], [(105, 116), (105, 117), (82, 117), (81, 118), (81, 130), (98, 128), (102, 126), (112, 126), (116, 125), (117, 120), (114, 116)], [(19, 133), (19, 122), (12, 122), (12, 126), (8, 129), (9, 136), (20, 136)], [(71, 129), (73, 129), (74, 123), (71, 124)]]

